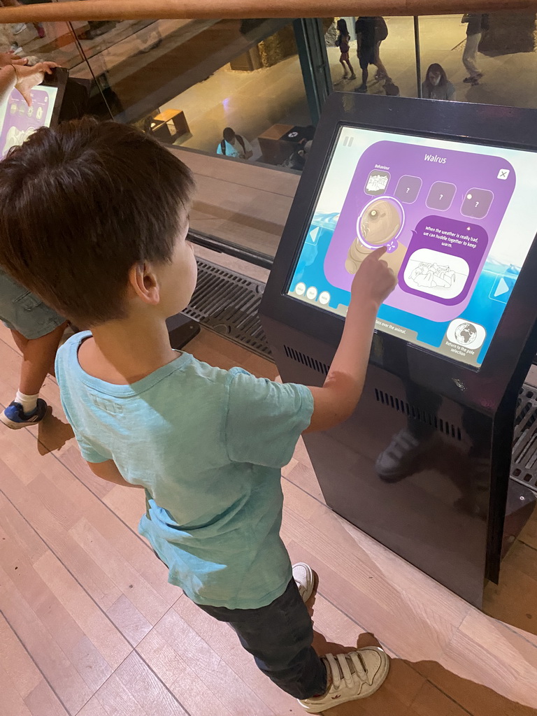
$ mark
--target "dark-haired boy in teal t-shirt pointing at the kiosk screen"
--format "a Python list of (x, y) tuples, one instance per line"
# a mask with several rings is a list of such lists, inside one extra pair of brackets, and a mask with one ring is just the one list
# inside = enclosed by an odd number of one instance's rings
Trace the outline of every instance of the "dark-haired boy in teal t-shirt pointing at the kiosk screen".
[(0, 163), (0, 261), (92, 329), (59, 351), (62, 404), (92, 471), (145, 488), (140, 533), (168, 580), (228, 621), (258, 667), (318, 713), (372, 694), (389, 660), (377, 647), (323, 659), (311, 647), (313, 574), (291, 569), (279, 536), (280, 468), (301, 432), (352, 414), (395, 277), (382, 250), (363, 262), (322, 388), (174, 352), (165, 319), (196, 281), (185, 242), (192, 193), (185, 165), (134, 127), (38, 130)]

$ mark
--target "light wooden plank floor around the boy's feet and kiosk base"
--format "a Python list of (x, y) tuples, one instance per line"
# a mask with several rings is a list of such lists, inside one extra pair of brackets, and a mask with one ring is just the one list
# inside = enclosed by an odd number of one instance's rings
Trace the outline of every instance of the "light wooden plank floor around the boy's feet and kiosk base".
[[(274, 377), (271, 364), (203, 332), (189, 346), (221, 367)], [(0, 402), (19, 355), (0, 331)], [(139, 490), (84, 467), (59, 407), (39, 432), (0, 425), (2, 716), (289, 716), (299, 705), (258, 672), (231, 629), (166, 582), (136, 526)], [(332, 513), (299, 445), (284, 469), (283, 536), (319, 574), (319, 652), (378, 639), (386, 684), (331, 716), (537, 714), (537, 521), (490, 588), (497, 621)], [(506, 622), (510, 621), (511, 624)], [(514, 625), (514, 626), (513, 626)]]

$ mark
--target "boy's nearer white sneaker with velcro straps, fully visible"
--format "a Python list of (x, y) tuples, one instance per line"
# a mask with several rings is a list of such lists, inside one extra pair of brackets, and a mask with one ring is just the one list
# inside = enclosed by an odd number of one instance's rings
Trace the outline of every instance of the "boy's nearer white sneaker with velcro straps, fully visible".
[(322, 657), (332, 684), (326, 694), (299, 699), (309, 714), (319, 714), (347, 701), (364, 699), (382, 686), (390, 671), (390, 659), (380, 647), (364, 647), (350, 654)]

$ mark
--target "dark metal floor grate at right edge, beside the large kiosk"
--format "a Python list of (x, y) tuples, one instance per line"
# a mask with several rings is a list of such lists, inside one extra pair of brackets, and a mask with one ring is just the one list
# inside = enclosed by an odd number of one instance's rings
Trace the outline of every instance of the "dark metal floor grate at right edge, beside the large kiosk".
[(537, 493), (537, 388), (531, 385), (518, 395), (511, 478)]

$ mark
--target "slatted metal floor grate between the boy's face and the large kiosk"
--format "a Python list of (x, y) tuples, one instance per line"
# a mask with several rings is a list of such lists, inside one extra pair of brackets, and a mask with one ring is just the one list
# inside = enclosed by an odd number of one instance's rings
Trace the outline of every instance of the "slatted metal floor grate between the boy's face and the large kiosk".
[(258, 308), (264, 284), (198, 258), (198, 285), (183, 314), (272, 360)]

